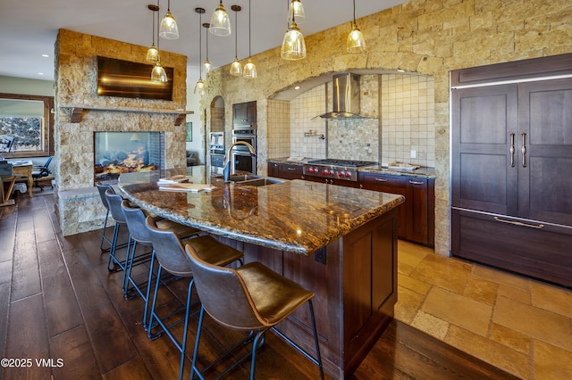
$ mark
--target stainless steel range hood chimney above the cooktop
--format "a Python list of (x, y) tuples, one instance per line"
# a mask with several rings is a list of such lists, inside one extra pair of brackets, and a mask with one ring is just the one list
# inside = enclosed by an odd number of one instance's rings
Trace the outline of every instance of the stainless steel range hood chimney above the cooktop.
[(350, 72), (333, 76), (332, 112), (319, 115), (324, 119), (358, 119), (359, 114), (359, 75)]

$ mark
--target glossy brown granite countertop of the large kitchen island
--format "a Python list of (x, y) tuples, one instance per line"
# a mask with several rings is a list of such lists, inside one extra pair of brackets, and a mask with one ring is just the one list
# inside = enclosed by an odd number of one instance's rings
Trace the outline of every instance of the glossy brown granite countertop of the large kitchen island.
[(130, 202), (158, 216), (214, 235), (305, 255), (405, 201), (399, 194), (298, 179), (240, 186), (213, 178), (214, 189), (198, 193), (160, 191), (158, 179), (156, 172), (122, 174), (119, 188)]

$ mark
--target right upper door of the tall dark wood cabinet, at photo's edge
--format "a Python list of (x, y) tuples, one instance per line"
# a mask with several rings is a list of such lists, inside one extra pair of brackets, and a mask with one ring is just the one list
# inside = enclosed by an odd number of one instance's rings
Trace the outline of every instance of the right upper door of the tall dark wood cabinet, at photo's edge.
[(523, 83), (518, 100), (519, 216), (572, 226), (572, 78)]

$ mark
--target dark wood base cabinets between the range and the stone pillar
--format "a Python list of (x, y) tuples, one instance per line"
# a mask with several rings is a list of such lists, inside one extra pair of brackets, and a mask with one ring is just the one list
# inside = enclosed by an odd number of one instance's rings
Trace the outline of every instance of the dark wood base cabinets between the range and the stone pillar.
[(434, 179), (392, 176), (382, 173), (359, 173), (359, 183), (367, 190), (401, 194), (398, 235), (400, 238), (428, 246), (434, 245)]

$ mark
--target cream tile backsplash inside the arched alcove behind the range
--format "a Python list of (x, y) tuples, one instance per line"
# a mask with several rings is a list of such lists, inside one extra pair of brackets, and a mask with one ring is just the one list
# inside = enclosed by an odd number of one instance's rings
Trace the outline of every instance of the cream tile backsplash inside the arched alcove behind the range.
[[(332, 111), (331, 95), (326, 99), (326, 86), (327, 93), (332, 94), (329, 82), (292, 99), (290, 107), (284, 101), (268, 103), (269, 115), (273, 115), (269, 120), (275, 120), (269, 128), (272, 147), (269, 157), (380, 161), (381, 154), (382, 162), (403, 161), (434, 167), (433, 78), (410, 74), (362, 75), (360, 108), (366, 118), (327, 122), (316, 118)], [(325, 139), (320, 138), (323, 135)], [(415, 158), (411, 157), (412, 151)]]

